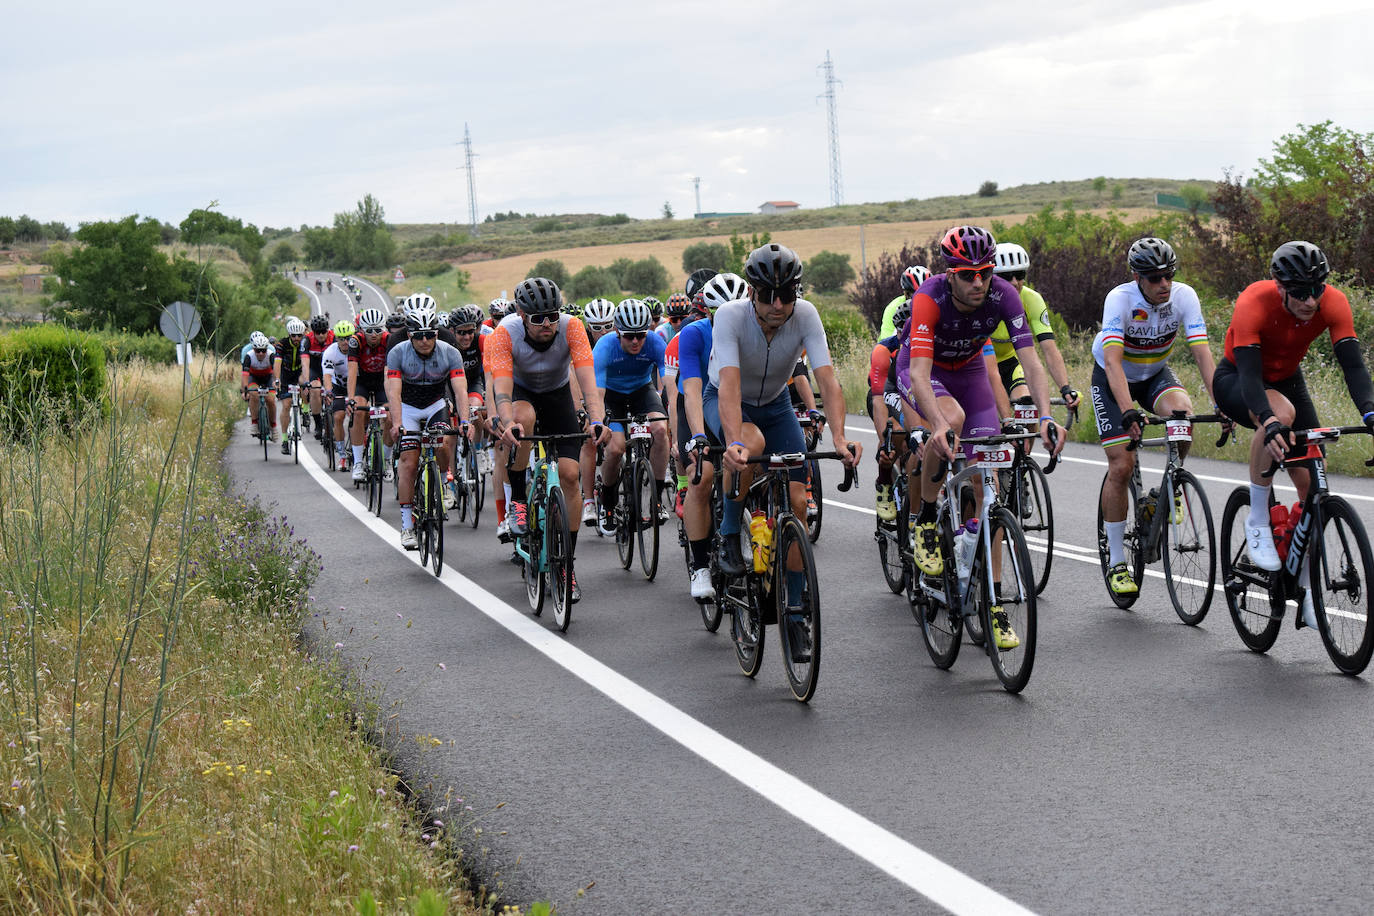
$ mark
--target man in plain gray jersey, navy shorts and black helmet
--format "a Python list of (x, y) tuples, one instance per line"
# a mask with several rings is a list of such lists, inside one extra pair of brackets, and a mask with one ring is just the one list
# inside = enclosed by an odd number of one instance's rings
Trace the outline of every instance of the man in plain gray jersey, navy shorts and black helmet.
[[(725, 468), (739, 478), (741, 497), (725, 500), (720, 523), (721, 549), (717, 560), (720, 569), (730, 575), (741, 575), (746, 570), (739, 547), (739, 527), (743, 496), (753, 479), (749, 459), (765, 450), (805, 452), (801, 426), (787, 393), (791, 369), (804, 352), (809, 354), (826, 401), (845, 402), (830, 361), (820, 313), (797, 293), (801, 258), (782, 244), (760, 246), (745, 262), (745, 279), (749, 298), (730, 302), (716, 312), (708, 369), (710, 383), (702, 393), (706, 426), (717, 439), (728, 444), (724, 452)], [(697, 433), (695, 428), (692, 431)], [(844, 423), (831, 423), (830, 437), (845, 464), (855, 467), (863, 449), (857, 442), (845, 439)], [(789, 475), (791, 508), (797, 518), (807, 518), (807, 470), (791, 468)], [(802, 584), (797, 581), (798, 577), (787, 578), (787, 606), (791, 607), (798, 600), (797, 592)], [(798, 647), (804, 643), (801, 640)]]

